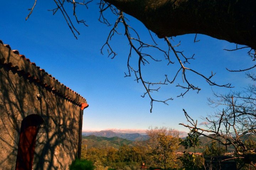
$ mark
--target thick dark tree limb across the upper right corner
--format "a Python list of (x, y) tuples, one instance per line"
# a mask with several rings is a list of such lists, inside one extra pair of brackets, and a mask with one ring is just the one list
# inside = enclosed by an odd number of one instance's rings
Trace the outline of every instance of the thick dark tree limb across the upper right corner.
[(199, 33), (256, 49), (255, 0), (105, 0), (159, 38)]

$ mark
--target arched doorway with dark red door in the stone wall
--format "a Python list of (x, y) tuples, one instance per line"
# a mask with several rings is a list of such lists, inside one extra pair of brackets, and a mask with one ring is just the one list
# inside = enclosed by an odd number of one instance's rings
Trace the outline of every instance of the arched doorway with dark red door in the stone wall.
[(36, 114), (22, 120), (15, 170), (32, 170), (36, 136), (42, 123), (42, 117)]

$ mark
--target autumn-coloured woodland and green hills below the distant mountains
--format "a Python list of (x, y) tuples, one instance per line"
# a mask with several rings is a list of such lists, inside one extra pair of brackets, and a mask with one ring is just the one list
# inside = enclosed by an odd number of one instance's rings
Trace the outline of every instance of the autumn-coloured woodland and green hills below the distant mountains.
[[(198, 148), (185, 149), (181, 139), (170, 134), (151, 130), (147, 141), (129, 141), (119, 137), (83, 136), (81, 158), (92, 161), (97, 170), (139, 170), (155, 167), (158, 169), (181, 170), (182, 167), (191, 166), (195, 169), (203, 168), (203, 155), (225, 155), (226, 148), (212, 139), (199, 136)], [(254, 144), (256, 136), (247, 135), (242, 141)], [(233, 153), (233, 147), (227, 147)], [(184, 152), (186, 151), (186, 152)], [(185, 153), (185, 154), (183, 154)], [(196, 153), (196, 154), (192, 154)], [(201, 153), (201, 154), (198, 154)], [(239, 165), (239, 164), (238, 164)], [(245, 166), (245, 170), (246, 170)]]

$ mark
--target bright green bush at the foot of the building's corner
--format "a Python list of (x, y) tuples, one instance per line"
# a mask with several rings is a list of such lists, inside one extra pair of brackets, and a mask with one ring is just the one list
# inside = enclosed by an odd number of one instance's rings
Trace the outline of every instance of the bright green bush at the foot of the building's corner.
[(70, 165), (70, 170), (94, 170), (92, 161), (86, 159), (75, 159)]

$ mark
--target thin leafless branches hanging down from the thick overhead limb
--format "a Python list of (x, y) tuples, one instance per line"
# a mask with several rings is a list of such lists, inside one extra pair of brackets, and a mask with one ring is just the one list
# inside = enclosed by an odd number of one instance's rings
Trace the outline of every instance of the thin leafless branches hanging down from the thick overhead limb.
[[(60, 11), (62, 13), (63, 18), (66, 21), (69, 29), (73, 33), (74, 37), (77, 39), (78, 35), (80, 33), (79, 33), (78, 29), (76, 29), (75, 25), (73, 24), (73, 21), (76, 21), (78, 24), (83, 23), (85, 26), (87, 26), (87, 24), (85, 23), (84, 20), (78, 19), (78, 16), (76, 14), (76, 12), (77, 12), (76, 7), (78, 5), (81, 5), (81, 6), (85, 6), (86, 9), (88, 9), (88, 4), (90, 2), (92, 2), (93, 0), (53, 0), (53, 1), (55, 2), (57, 7), (55, 9), (52, 9), (49, 11), (52, 11), (53, 15), (57, 11)], [(33, 12), (36, 2), (37, 2), (37, 0), (34, 1), (33, 7), (31, 9), (29, 9), (30, 13), (28, 14), (27, 18)], [(128, 24), (129, 20), (128, 20), (128, 18), (126, 18), (124, 16), (124, 13), (122, 12), (122, 10), (117, 9), (117, 7), (113, 5), (113, 4), (115, 4), (113, 2), (116, 3), (118, 1), (113, 1), (113, 0), (99, 0), (98, 1), (98, 7), (100, 9), (100, 16), (99, 16), (98, 20), (100, 22), (106, 24), (107, 26), (112, 26), (111, 22), (108, 21), (108, 18), (106, 18), (106, 16), (107, 16), (107, 15), (105, 15), (106, 11), (112, 13), (114, 16), (117, 16), (117, 19), (113, 23), (113, 26), (110, 29), (110, 32), (107, 36), (105, 44), (103, 44), (102, 48), (100, 49), (101, 54), (103, 54), (103, 51), (106, 50), (108, 53), (108, 57), (110, 57), (111, 59), (116, 57), (117, 53), (116, 53), (114, 47), (111, 46), (111, 39), (114, 35), (119, 34), (118, 25), (121, 24), (124, 27), (124, 31), (125, 31), (124, 35), (126, 35), (126, 38), (129, 42), (129, 54), (128, 54), (128, 59), (127, 59), (127, 70), (128, 71), (124, 73), (124, 77), (131, 76), (131, 73), (133, 73), (135, 76), (135, 81), (142, 82), (142, 84), (145, 88), (145, 92), (143, 93), (142, 97), (148, 96), (150, 98), (150, 101), (151, 101), (150, 102), (150, 106), (151, 106), (150, 111), (152, 111), (153, 102), (161, 102), (161, 103), (167, 104), (167, 101), (172, 100), (172, 98), (168, 98), (166, 100), (155, 99), (153, 97), (153, 92), (158, 92), (161, 89), (161, 86), (163, 86), (163, 85), (172, 84), (175, 81), (178, 81), (178, 80), (176, 80), (178, 75), (181, 76), (182, 83), (177, 82), (176, 87), (180, 87), (184, 91), (177, 97), (183, 97), (190, 90), (193, 90), (193, 91), (195, 90), (197, 93), (201, 90), (201, 88), (199, 88), (197, 85), (192, 84), (190, 77), (187, 76), (188, 71), (193, 72), (194, 74), (198, 75), (199, 77), (202, 77), (203, 79), (205, 79), (206, 82), (210, 86), (232, 88), (230, 83), (227, 83), (227, 84), (215, 83), (215, 81), (212, 80), (212, 77), (215, 75), (215, 73), (213, 73), (213, 72), (211, 72), (210, 76), (208, 77), (208, 76), (203, 75), (202, 73), (199, 73), (196, 70), (193, 70), (192, 68), (188, 68), (186, 66), (186, 64), (190, 64), (190, 61), (195, 59), (194, 58), (195, 55), (193, 54), (191, 57), (186, 57), (183, 53), (184, 51), (178, 51), (177, 48), (181, 45), (181, 42), (178, 42), (178, 44), (176, 44), (176, 45), (172, 45), (170, 42), (170, 39), (174, 41), (174, 39), (172, 39), (172, 37), (169, 37), (169, 38), (164, 37), (164, 40), (167, 44), (167, 49), (162, 49), (159, 47), (155, 37), (151, 34), (152, 29), (151, 30), (148, 29), (149, 37), (152, 40), (152, 42), (151, 42), (152, 44), (144, 42), (144, 40), (140, 39), (140, 36), (139, 36), (138, 32), (136, 31), (136, 29), (134, 29), (133, 27), (131, 27)], [(133, 2), (129, 1), (127, 3), (131, 4)], [(153, 1), (150, 1), (150, 3), (153, 3)], [(73, 17), (70, 17), (69, 13), (66, 12), (66, 11), (68, 11), (68, 10), (66, 10), (66, 8), (67, 8), (66, 4), (70, 4), (70, 6), (72, 6)], [(136, 6), (136, 8), (137, 8), (137, 6)], [(195, 37), (194, 37), (194, 43), (196, 43), (198, 41), (199, 40), (197, 40), (197, 33), (196, 33)], [(149, 49), (149, 48), (159, 51), (160, 56), (156, 57), (154, 53), (151, 53), (148, 51), (145, 52), (144, 49)], [(241, 49), (245, 49), (245, 48), (250, 48), (250, 47), (249, 46), (238, 47), (238, 45), (236, 45), (236, 49), (234, 49), (234, 50), (228, 50), (228, 49), (225, 49), (225, 50), (235, 51), (235, 50), (241, 50)], [(136, 64), (135, 66), (132, 65), (131, 60), (130, 60), (130, 58), (134, 54), (138, 57), (138, 64)], [(256, 59), (256, 51), (253, 50), (252, 48), (250, 48), (250, 50), (248, 51), (247, 54), (249, 56), (251, 56), (253, 60)], [(171, 58), (172, 55), (174, 56), (173, 58)], [(155, 61), (155, 62), (164, 61), (162, 59), (167, 60), (167, 66), (170, 66), (171, 64), (175, 64), (175, 62), (173, 60), (177, 59), (180, 66), (178, 67), (178, 70), (174, 72), (174, 74), (173, 74), (174, 78), (172, 80), (169, 80), (167, 77), (167, 74), (166, 74), (165, 79), (163, 79), (162, 81), (159, 81), (159, 82), (151, 82), (150, 80), (144, 79), (143, 73), (142, 73), (143, 66), (150, 64), (152, 61)], [(256, 65), (251, 68), (247, 68), (247, 69), (239, 70), (239, 71), (247, 71), (254, 67), (256, 67)], [(233, 71), (233, 70), (229, 70), (229, 71)]]

